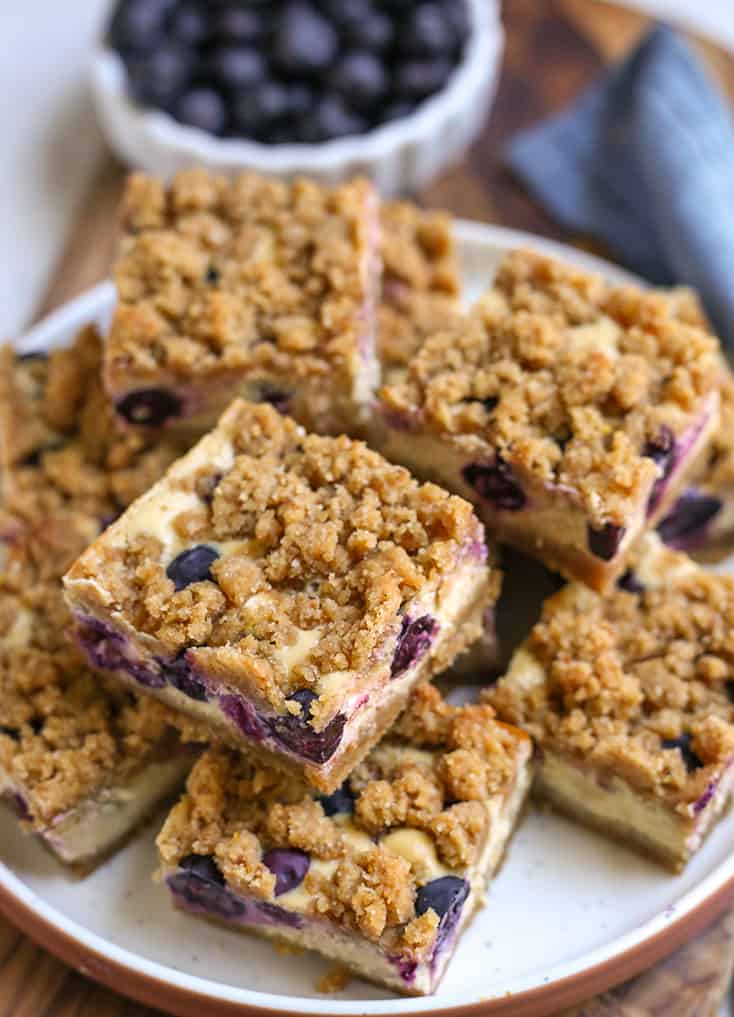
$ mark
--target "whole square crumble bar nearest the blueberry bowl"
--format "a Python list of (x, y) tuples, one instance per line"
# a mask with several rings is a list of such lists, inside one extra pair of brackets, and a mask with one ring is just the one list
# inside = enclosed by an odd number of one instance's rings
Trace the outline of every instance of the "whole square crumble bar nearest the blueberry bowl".
[(363, 413), (378, 379), (369, 183), (137, 175), (124, 223), (105, 381), (128, 423), (200, 434), (235, 396), (324, 432)]

